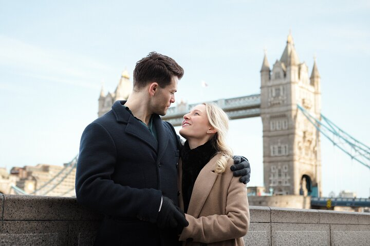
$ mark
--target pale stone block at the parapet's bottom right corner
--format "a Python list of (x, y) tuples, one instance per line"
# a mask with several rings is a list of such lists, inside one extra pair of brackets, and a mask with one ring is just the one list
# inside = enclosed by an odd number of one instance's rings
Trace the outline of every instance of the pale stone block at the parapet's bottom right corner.
[(370, 226), (331, 224), (332, 246), (363, 246), (370, 245)]

